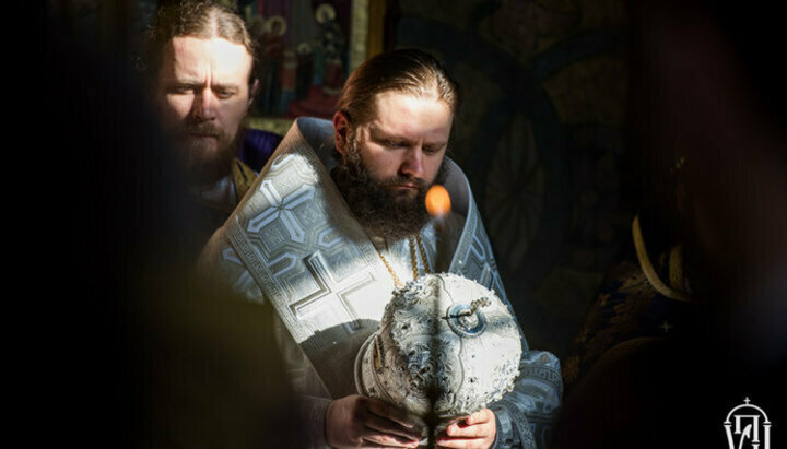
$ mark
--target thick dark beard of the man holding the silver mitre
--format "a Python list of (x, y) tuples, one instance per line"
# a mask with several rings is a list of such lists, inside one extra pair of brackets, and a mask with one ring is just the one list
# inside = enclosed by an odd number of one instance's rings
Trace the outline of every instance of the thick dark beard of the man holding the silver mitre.
[[(398, 240), (414, 235), (428, 223), (424, 199), (432, 185), (409, 176), (374, 179), (362, 161), (356, 143), (351, 133), (344, 162), (331, 172), (350, 211), (373, 236)], [(444, 158), (433, 184), (443, 184), (445, 174)], [(415, 185), (416, 196), (411, 198), (387, 189), (387, 186), (401, 184)]]

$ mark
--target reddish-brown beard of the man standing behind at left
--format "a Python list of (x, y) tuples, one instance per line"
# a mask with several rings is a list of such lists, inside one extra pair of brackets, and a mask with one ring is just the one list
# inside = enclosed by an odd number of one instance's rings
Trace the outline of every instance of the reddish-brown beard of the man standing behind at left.
[[(191, 137), (195, 133), (213, 135), (216, 141), (195, 139)], [(210, 186), (227, 176), (237, 154), (240, 134), (235, 132), (233, 137), (227, 135), (208, 121), (186, 122), (178, 130), (176, 145), (189, 182), (193, 186)]]

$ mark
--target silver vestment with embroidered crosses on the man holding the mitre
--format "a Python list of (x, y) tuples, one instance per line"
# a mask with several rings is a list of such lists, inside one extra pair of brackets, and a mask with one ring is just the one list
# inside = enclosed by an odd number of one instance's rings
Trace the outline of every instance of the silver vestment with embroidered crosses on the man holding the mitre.
[[(331, 122), (297, 119), (203, 250), (200, 267), (236, 292), (269, 302), (338, 399), (355, 392), (353, 361), (377, 329), (393, 282), (330, 178), (332, 137)], [(510, 310), (469, 184), (450, 161), (446, 188), (463, 221), (453, 236), (433, 225), (422, 229), (428, 265), (494, 290)], [(560, 404), (556, 357), (528, 351), (524, 339), (522, 348), (515, 390), (491, 406), (500, 447), (535, 447)]]

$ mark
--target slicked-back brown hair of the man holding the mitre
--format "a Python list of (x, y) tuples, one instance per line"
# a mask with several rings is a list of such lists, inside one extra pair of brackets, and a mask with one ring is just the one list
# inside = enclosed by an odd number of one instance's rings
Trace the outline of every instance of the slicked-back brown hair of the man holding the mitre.
[(366, 123), (374, 115), (375, 96), (383, 92), (416, 96), (437, 95), (457, 115), (459, 84), (432, 55), (410, 48), (379, 54), (355, 69), (342, 88), (337, 109), (353, 126)]

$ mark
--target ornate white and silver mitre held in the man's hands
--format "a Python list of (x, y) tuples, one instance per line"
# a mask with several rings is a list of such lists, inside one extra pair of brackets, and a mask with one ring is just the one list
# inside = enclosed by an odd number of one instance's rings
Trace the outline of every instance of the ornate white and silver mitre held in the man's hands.
[(360, 394), (446, 421), (489, 406), (514, 387), (521, 340), (493, 292), (450, 273), (393, 291), (355, 358)]

